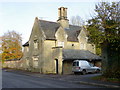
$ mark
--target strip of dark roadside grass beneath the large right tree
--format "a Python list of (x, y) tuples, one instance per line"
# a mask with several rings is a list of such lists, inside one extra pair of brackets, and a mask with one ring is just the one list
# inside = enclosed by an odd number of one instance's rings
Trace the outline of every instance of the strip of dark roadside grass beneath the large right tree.
[(93, 80), (100, 80), (100, 81), (108, 81), (108, 82), (115, 82), (115, 83), (120, 83), (120, 78), (106, 78), (104, 76), (95, 76), (92, 77), (91, 79)]

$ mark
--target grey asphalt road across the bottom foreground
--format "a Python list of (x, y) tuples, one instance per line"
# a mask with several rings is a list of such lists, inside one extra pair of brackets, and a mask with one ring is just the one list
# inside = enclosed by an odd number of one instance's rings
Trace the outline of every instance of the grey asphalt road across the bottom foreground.
[(100, 88), (51, 78), (26, 76), (2, 71), (2, 88)]

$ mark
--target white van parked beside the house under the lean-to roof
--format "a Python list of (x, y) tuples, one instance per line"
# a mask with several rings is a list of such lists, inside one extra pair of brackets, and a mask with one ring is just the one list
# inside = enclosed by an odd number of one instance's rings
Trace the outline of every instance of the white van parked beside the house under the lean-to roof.
[(77, 73), (86, 74), (89, 72), (98, 73), (100, 71), (101, 71), (101, 68), (91, 65), (88, 61), (85, 61), (85, 60), (73, 61), (72, 72), (74, 72), (74, 74), (77, 74)]

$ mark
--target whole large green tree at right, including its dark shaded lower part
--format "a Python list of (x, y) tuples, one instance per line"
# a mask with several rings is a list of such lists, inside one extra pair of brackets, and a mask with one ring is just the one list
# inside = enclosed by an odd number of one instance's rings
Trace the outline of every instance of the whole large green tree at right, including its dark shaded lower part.
[(96, 15), (88, 20), (90, 41), (102, 46), (102, 51), (107, 53), (107, 58), (103, 58), (103, 74), (107, 77), (118, 77), (120, 76), (120, 2), (98, 3), (95, 12)]

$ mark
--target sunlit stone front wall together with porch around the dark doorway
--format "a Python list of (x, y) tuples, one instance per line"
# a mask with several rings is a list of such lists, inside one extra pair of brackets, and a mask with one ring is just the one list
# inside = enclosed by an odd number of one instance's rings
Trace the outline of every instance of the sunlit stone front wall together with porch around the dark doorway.
[(56, 41), (44, 41), (43, 73), (56, 73), (56, 59), (58, 60), (58, 73), (62, 74), (62, 48), (55, 47)]

